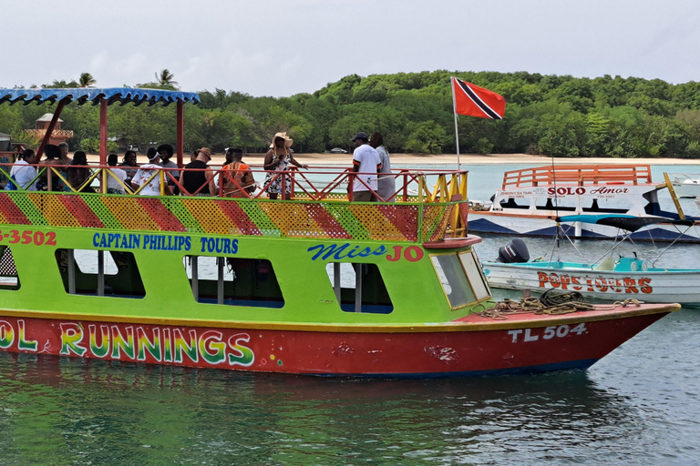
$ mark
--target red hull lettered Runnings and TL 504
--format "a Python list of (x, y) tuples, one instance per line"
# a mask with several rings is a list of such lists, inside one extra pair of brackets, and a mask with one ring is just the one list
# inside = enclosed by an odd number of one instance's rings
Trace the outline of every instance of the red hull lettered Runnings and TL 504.
[(0, 318), (0, 350), (195, 368), (324, 376), (444, 377), (586, 369), (677, 307), (566, 316), (468, 316), (382, 329), (207, 328)]

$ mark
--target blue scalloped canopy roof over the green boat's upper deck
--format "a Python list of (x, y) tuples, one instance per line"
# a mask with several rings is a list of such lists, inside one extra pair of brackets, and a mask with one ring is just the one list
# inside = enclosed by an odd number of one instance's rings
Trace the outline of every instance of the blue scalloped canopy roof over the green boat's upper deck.
[(177, 102), (191, 102), (198, 104), (200, 96), (196, 92), (164, 91), (161, 89), (139, 89), (133, 87), (110, 87), (95, 89), (91, 87), (81, 87), (78, 89), (0, 89), (0, 104), (9, 102), (15, 104), (23, 102), (28, 105), (30, 102), (42, 104), (44, 102), (57, 102), (68, 98), (69, 102), (76, 101), (80, 105), (92, 102), (98, 105), (103, 98), (107, 99), (108, 105), (118, 102), (122, 106), (132, 102), (134, 105), (154, 104), (169, 105)]

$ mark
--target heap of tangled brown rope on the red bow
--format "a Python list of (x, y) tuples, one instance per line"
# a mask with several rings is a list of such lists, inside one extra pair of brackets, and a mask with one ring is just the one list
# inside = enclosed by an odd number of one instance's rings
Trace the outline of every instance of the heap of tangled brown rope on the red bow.
[(503, 299), (497, 301), (496, 306), (491, 309), (484, 309), (478, 312), (479, 316), (505, 320), (509, 315), (513, 314), (538, 314), (558, 316), (562, 314), (571, 314), (571, 312), (579, 312), (585, 310), (612, 310), (617, 307), (626, 308), (628, 306), (639, 307), (640, 303), (637, 299), (625, 299), (624, 301), (615, 301), (612, 305), (593, 306), (591, 303), (583, 300), (582, 294), (577, 291), (558, 291), (548, 289), (540, 298), (529, 297), (521, 298), (520, 301), (513, 299)]

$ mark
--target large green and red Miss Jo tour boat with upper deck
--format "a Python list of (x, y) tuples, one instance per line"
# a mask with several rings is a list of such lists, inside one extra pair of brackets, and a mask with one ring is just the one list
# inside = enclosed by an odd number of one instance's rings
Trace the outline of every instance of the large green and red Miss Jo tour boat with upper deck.
[[(107, 194), (108, 104), (175, 103), (182, 167), (182, 105), (196, 94), (0, 90), (6, 101), (57, 102), (54, 118), (92, 102), (101, 117), (98, 192), (0, 192), (6, 351), (317, 376), (540, 372), (586, 369), (679, 309), (489, 317), (466, 171), (431, 172), (431, 192), (426, 170), (396, 170), (391, 203), (348, 201), (350, 167), (273, 172), (291, 200)], [(152, 177), (178, 183), (170, 169)]]

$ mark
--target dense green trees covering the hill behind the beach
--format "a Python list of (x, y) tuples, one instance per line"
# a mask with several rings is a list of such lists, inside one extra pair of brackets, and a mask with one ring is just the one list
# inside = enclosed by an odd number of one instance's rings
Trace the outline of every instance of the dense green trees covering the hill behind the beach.
[[(297, 152), (324, 152), (350, 148), (357, 131), (381, 131), (391, 152), (454, 153), (450, 76), (491, 89), (508, 102), (500, 121), (458, 118), (461, 152), (700, 157), (700, 83), (444, 70), (345, 76), (314, 94), (282, 98), (203, 91), (200, 105), (185, 106), (185, 148), (207, 146), (220, 152), (239, 146), (262, 152), (275, 132), (286, 131)], [(156, 78), (137, 86), (177, 86), (167, 69)], [(79, 86), (82, 81), (54, 81), (44, 87)], [(23, 129), (52, 108), (0, 106), (0, 131), (26, 138)], [(95, 146), (98, 107), (71, 104), (61, 117), (64, 127), (75, 132), (69, 140), (72, 149)], [(172, 143), (174, 123), (174, 106), (109, 107), (109, 135), (121, 147), (145, 150)]]

